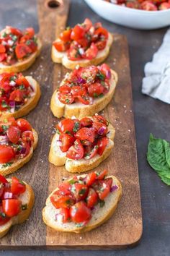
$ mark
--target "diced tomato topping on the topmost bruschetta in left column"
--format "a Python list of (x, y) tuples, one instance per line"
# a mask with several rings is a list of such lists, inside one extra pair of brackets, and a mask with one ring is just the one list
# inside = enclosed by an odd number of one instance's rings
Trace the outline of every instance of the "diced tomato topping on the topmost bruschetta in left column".
[(6, 26), (4, 30), (1, 30), (0, 63), (13, 65), (35, 51), (37, 51), (37, 38), (32, 27), (21, 31), (15, 27)]

